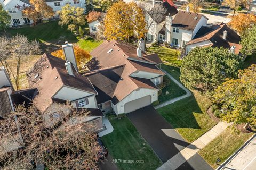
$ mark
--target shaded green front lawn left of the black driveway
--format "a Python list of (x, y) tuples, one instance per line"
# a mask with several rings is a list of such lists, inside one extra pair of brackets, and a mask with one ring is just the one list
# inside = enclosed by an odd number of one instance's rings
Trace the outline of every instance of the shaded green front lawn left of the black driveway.
[(144, 163), (117, 163), (120, 169), (156, 169), (161, 161), (127, 117), (110, 120), (114, 131), (102, 137), (113, 159), (143, 160)]

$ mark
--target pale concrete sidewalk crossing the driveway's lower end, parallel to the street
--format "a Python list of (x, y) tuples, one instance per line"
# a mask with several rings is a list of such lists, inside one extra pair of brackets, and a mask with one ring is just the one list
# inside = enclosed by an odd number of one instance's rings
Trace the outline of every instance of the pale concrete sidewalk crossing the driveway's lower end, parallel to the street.
[(199, 150), (205, 147), (208, 143), (210, 143), (214, 138), (220, 135), (228, 126), (232, 123), (219, 122), (208, 132), (203, 134), (200, 138), (191, 143), (188, 147), (181, 150), (178, 154), (169, 159), (166, 163), (164, 163), (158, 170), (169, 169), (174, 170), (177, 169), (180, 165), (185, 163), (189, 158), (193, 157)]

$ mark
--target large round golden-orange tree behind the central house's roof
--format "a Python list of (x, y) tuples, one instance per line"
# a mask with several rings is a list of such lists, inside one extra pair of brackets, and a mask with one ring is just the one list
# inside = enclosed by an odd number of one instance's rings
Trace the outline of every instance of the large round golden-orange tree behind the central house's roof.
[(105, 18), (104, 35), (108, 40), (129, 41), (130, 37), (142, 38), (146, 33), (145, 15), (136, 3), (114, 3)]

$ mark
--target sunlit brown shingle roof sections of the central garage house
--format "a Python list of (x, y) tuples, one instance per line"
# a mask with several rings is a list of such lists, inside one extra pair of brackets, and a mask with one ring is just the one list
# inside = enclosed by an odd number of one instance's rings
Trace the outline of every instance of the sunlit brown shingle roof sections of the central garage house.
[[(99, 47), (91, 52), (91, 55), (94, 58), (89, 62), (90, 70), (124, 65), (121, 74), (122, 79), (117, 83), (114, 94), (112, 94), (111, 100), (113, 103), (121, 101), (132, 91), (139, 88), (130, 78), (130, 75), (133, 72), (142, 70), (164, 75), (164, 73), (155, 66), (156, 63), (149, 62), (146, 57), (146, 59), (143, 59), (143, 56), (146, 56), (146, 53), (142, 52), (142, 57), (140, 58), (137, 56), (137, 47), (122, 41), (104, 41)], [(156, 54), (153, 55), (158, 57)]]

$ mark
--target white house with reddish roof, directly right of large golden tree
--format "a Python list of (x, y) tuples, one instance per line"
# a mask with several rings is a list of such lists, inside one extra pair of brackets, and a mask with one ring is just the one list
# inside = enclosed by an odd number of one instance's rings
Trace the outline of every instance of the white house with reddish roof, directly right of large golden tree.
[(164, 14), (162, 20), (155, 20), (153, 15), (150, 15), (150, 11), (154, 10), (155, 6), (155, 0), (153, 0), (153, 8), (149, 10), (148, 13), (146, 13), (146, 22), (149, 28), (148, 34), (147, 34), (147, 40), (148, 41), (165, 41), (166, 40), (166, 16), (173, 16), (178, 13), (177, 8), (174, 6), (174, 3), (171, 0), (164, 0), (163, 2), (159, 3), (166, 8), (166, 13)]

